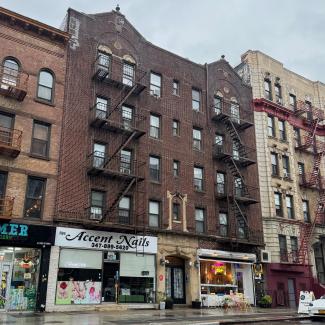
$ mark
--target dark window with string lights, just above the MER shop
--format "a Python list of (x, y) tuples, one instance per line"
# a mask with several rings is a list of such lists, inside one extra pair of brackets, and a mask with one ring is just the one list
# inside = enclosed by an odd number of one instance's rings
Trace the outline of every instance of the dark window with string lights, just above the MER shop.
[(28, 177), (24, 213), (26, 218), (41, 218), (45, 183), (43, 178)]

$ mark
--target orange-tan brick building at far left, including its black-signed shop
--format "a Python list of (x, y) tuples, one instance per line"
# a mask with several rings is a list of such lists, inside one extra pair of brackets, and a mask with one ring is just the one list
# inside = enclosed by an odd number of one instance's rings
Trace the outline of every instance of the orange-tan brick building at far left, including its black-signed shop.
[(45, 303), (67, 40), (0, 7), (0, 309)]

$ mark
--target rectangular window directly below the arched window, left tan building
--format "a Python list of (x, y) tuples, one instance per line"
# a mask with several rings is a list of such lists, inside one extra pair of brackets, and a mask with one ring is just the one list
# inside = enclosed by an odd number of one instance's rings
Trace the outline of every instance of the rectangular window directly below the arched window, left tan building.
[(50, 129), (48, 124), (34, 121), (31, 153), (48, 157), (50, 147)]

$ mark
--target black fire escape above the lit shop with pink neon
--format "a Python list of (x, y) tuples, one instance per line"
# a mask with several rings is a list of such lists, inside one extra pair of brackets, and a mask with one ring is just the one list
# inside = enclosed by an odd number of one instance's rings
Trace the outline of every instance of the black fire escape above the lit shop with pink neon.
[[(217, 183), (216, 197), (227, 201), (229, 225), (228, 238), (256, 242), (260, 234), (252, 230), (247, 215), (248, 206), (258, 202), (258, 189), (248, 185), (244, 170), (256, 163), (255, 149), (247, 147), (242, 141), (241, 132), (253, 126), (253, 112), (240, 109), (234, 102), (217, 99), (212, 108), (212, 120), (224, 125), (226, 134), (216, 138), (213, 156), (223, 161), (231, 177), (223, 186)], [(229, 176), (228, 172), (228, 176)], [(230, 182), (230, 178), (232, 182)]]

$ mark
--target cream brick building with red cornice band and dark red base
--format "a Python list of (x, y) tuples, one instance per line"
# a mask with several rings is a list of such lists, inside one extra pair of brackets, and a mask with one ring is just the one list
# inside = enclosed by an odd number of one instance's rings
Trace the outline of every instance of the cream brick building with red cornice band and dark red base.
[(259, 51), (236, 70), (253, 89), (265, 284), (275, 306), (294, 307), (299, 291), (324, 292), (325, 85)]

